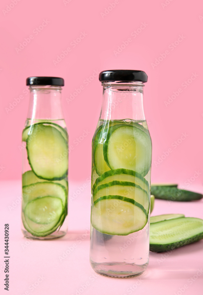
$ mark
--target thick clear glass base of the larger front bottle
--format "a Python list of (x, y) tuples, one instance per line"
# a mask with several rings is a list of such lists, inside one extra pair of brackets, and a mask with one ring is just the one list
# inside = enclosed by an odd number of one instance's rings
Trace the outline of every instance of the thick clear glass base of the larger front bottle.
[(139, 276), (148, 266), (148, 263), (145, 263), (144, 265), (137, 265), (135, 263), (125, 262), (95, 263), (90, 261), (90, 264), (96, 273), (114, 278), (131, 278)]

